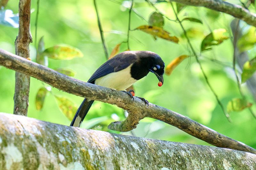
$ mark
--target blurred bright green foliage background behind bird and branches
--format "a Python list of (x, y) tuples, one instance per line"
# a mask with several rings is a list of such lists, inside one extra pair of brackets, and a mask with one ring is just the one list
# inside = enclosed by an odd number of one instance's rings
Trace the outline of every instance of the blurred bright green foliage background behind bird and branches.
[[(238, 1), (230, 2), (239, 3)], [(18, 13), (18, 3), (18, 0), (9, 1), (5, 9)], [(34, 11), (31, 13), (33, 43), (30, 45), (30, 54), (33, 61), (36, 58), (36, 3), (36, 1), (32, 1), (31, 4), (31, 9)], [(125, 6), (129, 6), (130, 3), (131, 1), (97, 0), (109, 54), (117, 44), (127, 39), (129, 9)], [(169, 3), (157, 3), (155, 6), (169, 18), (175, 19)], [(155, 11), (153, 7), (143, 0), (135, 0), (133, 9), (146, 20)], [(250, 9), (255, 12), (253, 7), (250, 7)], [(179, 13), (179, 18), (185, 17), (198, 18), (203, 22), (203, 24), (189, 21), (183, 22), (188, 32), (189, 29), (194, 30), (190, 31), (189, 35), (197, 54), (200, 54), (202, 40), (207, 34), (211, 33), (211, 30), (224, 28), (229, 36), (232, 35), (229, 24), (233, 17), (227, 14), (210, 11), (205, 8), (186, 6)], [(171, 35), (177, 36), (180, 40), (179, 44), (160, 38), (154, 40), (151, 35), (135, 30), (130, 32), (130, 50), (153, 51), (161, 56), (165, 66), (167, 66), (176, 57), (190, 55), (191, 51), (188, 49), (187, 41), (179, 24), (166, 18), (164, 21), (164, 30), (170, 32)], [(133, 30), (141, 25), (148, 25), (148, 23), (132, 11), (131, 29)], [(246, 29), (246, 25), (243, 24), (243, 26)], [(87, 81), (92, 73), (106, 61), (92, 0), (41, 1), (37, 29), (37, 42), (40, 37), (44, 36), (45, 48), (64, 43), (80, 49), (84, 54), (84, 57), (72, 60), (49, 59), (49, 67), (52, 69), (68, 68), (74, 70), (77, 73), (74, 78)], [(18, 28), (0, 25), (0, 48), (15, 53), (14, 41), (17, 35)], [(120, 47), (120, 52), (126, 49), (127, 44), (123, 43)], [(250, 58), (254, 57), (256, 48), (252, 48), (248, 54)], [(212, 47), (212, 50), (203, 52), (199, 59), (210, 84), (224, 106), (227, 105), (229, 100), (240, 97), (232, 71), (233, 45), (230, 39)], [(0, 66), (0, 112), (13, 112), (14, 77), (15, 72), (13, 70)], [(162, 87), (158, 87), (157, 83), (158, 80), (155, 75), (149, 73), (147, 77), (134, 84), (136, 95), (256, 148), (256, 119), (253, 118), (248, 109), (244, 109), (241, 112), (231, 112), (230, 117), (233, 122), (228, 122), (213, 93), (205, 83), (199, 65), (192, 55), (189, 59), (180, 63), (170, 76), (164, 75), (164, 85)], [(37, 111), (35, 106), (36, 93), (43, 86), (48, 85), (31, 78), (28, 116), (69, 126), (71, 121), (60, 111), (54, 95), (67, 97), (76, 104), (76, 107), (80, 105), (83, 98), (52, 88), (52, 93), (48, 93), (45, 98), (44, 107), (41, 111)], [(247, 99), (253, 103), (252, 110), (255, 111), (255, 101), (246, 84), (242, 84), (242, 91), (246, 94)], [(108, 130), (107, 126), (112, 121), (124, 120), (124, 118), (124, 111), (121, 108), (96, 101), (81, 128), (120, 133)], [(137, 128), (132, 130), (132, 133), (121, 134), (209, 145), (171, 125), (150, 118), (141, 120)]]

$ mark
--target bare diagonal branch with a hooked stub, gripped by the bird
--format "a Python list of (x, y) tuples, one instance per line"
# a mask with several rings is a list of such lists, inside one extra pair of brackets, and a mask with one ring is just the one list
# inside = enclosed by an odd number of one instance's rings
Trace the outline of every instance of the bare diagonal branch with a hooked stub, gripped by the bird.
[(145, 103), (137, 97), (132, 101), (130, 96), (124, 92), (82, 82), (38, 63), (34, 63), (20, 56), (14, 55), (3, 49), (0, 49), (0, 65), (37, 78), (64, 92), (91, 100), (114, 104), (124, 110), (127, 110), (129, 113), (128, 117), (123, 122), (112, 122), (109, 125), (109, 129), (129, 131), (136, 128), (136, 125), (141, 119), (151, 117), (175, 126), (214, 146), (256, 154), (256, 150), (250, 146), (226, 137), (225, 135), (189, 119), (188, 117), (175, 113), (164, 107), (156, 106), (151, 103), (149, 103), (149, 106), (147, 107)]

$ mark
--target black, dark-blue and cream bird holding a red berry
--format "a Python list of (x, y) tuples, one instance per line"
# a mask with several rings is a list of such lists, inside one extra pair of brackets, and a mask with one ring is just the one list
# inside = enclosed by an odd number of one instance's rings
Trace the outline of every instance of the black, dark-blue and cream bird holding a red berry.
[[(133, 90), (126, 92), (125, 89), (132, 86), (136, 81), (152, 72), (159, 80), (158, 85), (164, 84), (164, 61), (159, 55), (151, 51), (124, 51), (103, 63), (89, 78), (88, 83), (123, 91), (132, 99)], [(140, 98), (140, 97), (138, 97)], [(148, 101), (140, 98), (148, 105)], [(94, 100), (85, 98), (77, 109), (70, 126), (79, 127), (87, 115)]]

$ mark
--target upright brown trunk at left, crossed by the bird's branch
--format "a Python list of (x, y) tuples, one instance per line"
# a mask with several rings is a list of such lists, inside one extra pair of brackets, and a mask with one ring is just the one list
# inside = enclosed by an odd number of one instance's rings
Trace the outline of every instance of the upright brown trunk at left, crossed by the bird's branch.
[[(30, 34), (30, 0), (20, 0), (19, 3), (19, 33), (15, 41), (15, 54), (24, 58), (29, 57)], [(20, 72), (15, 73), (14, 109), (16, 115), (28, 114), (30, 76)]]

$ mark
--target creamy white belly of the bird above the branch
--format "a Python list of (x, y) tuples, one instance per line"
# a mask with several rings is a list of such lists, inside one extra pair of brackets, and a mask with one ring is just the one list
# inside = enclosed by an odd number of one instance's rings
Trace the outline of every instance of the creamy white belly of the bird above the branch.
[(131, 66), (124, 70), (110, 73), (106, 76), (98, 78), (95, 80), (95, 85), (100, 85), (115, 90), (125, 90), (137, 81), (131, 77), (130, 70)]

